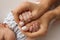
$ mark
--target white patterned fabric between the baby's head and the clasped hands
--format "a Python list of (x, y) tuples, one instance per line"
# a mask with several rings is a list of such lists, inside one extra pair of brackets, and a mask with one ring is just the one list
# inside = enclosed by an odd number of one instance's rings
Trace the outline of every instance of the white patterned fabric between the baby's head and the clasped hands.
[(26, 36), (24, 36), (24, 34), (21, 33), (20, 29), (18, 28), (17, 23), (14, 21), (14, 18), (11, 12), (5, 18), (3, 23), (8, 24), (9, 28), (15, 32), (17, 36), (17, 40), (25, 40)]

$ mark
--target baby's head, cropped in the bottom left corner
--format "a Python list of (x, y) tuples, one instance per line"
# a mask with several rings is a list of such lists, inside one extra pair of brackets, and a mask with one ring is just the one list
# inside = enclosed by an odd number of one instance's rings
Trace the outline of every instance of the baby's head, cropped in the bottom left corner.
[(0, 40), (16, 40), (15, 33), (3, 23), (0, 23)]

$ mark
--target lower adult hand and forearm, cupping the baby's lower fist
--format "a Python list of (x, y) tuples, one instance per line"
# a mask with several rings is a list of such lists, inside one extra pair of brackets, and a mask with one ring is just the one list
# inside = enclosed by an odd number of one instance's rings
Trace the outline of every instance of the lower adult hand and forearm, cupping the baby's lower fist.
[(32, 21), (31, 23), (25, 25), (26, 27), (31, 27), (31, 26), (33, 26), (33, 24), (37, 23), (38, 25), (35, 24), (35, 27), (36, 27), (36, 25), (38, 27), (40, 27), (40, 29), (37, 32), (32, 32), (31, 33), (31, 32), (28, 32), (28, 31), (26, 32), (26, 31), (23, 31), (23, 30), (22, 30), (22, 32), (26, 36), (31, 37), (31, 38), (36, 38), (36, 37), (45, 35), (48, 31), (48, 26), (49, 26), (50, 21), (53, 20), (53, 19), (56, 19), (56, 17), (59, 17), (59, 16), (60, 16), (60, 6), (58, 6), (57, 8), (55, 8), (51, 11), (46, 12), (39, 19), (37, 19), (35, 21)]

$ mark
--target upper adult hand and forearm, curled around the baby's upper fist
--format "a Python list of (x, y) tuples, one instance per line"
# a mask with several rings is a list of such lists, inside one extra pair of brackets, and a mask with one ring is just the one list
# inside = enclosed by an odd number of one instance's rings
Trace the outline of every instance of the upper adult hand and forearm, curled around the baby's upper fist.
[[(35, 3), (31, 3), (31, 2), (22, 3), (22, 5), (19, 5), (14, 10), (12, 10), (16, 23), (19, 24), (19, 22), (20, 22), (19, 15), (23, 15), (23, 13), (25, 11), (30, 11), (31, 12), (32, 17), (30, 17), (30, 21), (39, 18), (55, 2), (56, 2), (56, 0), (53, 0), (53, 1), (52, 0), (41, 0), (41, 3), (38, 4), (38, 5), (35, 4)], [(24, 23), (26, 24), (26, 23), (29, 23), (30, 21), (28, 21), (28, 20), (25, 21), (24, 20)]]

